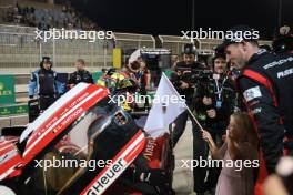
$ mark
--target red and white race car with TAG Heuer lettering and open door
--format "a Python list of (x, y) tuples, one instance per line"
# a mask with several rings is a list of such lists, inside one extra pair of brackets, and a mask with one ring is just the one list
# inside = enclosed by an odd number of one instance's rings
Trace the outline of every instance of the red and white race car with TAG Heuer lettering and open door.
[(27, 126), (3, 129), (0, 188), (36, 195), (174, 194), (170, 134), (150, 137), (109, 94), (80, 83)]

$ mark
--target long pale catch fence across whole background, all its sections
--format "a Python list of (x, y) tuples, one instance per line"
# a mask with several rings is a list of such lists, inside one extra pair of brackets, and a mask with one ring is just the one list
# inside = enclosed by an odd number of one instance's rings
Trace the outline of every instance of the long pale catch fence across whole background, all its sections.
[[(84, 59), (88, 70), (95, 72), (103, 66), (112, 66), (113, 48), (123, 51), (138, 48), (155, 47), (170, 49), (172, 54), (180, 55), (182, 47), (190, 43), (181, 37), (159, 35), (154, 39), (151, 34), (118, 33), (113, 32), (113, 40), (49, 40), (43, 42), (36, 39), (36, 28), (0, 24), (0, 73), (24, 73), (39, 66), (42, 55), (49, 55), (53, 60), (57, 71), (71, 72), (73, 62)], [(213, 49), (222, 40), (194, 40), (200, 54), (211, 55)], [(271, 44), (271, 41), (260, 41)]]

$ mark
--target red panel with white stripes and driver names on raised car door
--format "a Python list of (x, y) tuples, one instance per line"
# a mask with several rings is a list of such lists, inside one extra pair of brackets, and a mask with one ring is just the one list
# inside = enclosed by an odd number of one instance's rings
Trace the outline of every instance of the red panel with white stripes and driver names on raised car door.
[(87, 86), (88, 88), (81, 91), (74, 99), (71, 99), (65, 105), (61, 106), (50, 117), (51, 120), (48, 120), (47, 123), (43, 123), (39, 129), (33, 131), (23, 153), (24, 163), (30, 162), (74, 120), (108, 94), (108, 91), (105, 91), (104, 88), (93, 84)]

